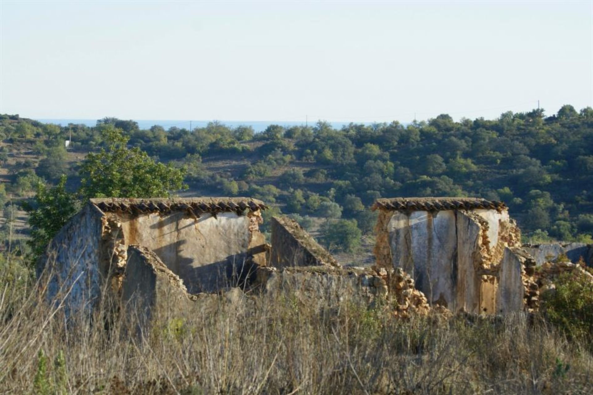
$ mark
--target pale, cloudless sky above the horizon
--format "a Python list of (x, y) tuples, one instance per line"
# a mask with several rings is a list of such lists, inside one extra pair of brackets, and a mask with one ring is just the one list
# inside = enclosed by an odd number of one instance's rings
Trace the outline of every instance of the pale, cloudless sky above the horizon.
[(593, 106), (593, 1), (0, 0), (0, 113), (410, 121)]

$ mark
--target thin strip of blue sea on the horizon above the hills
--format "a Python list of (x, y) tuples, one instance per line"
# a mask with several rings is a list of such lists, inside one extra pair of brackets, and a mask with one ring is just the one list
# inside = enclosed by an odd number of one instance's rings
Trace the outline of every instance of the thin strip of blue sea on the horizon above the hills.
[[(43, 123), (53, 123), (58, 124), (61, 126), (67, 126), (69, 123), (72, 124), (83, 124), (87, 126), (95, 126), (97, 124), (97, 120), (91, 119), (37, 119), (36, 121), (40, 121)], [(165, 130), (169, 129), (170, 127), (178, 127), (178, 128), (190, 128), (190, 123), (192, 125), (192, 129), (195, 127), (205, 127), (208, 125), (209, 122), (212, 121), (187, 121), (187, 120), (134, 120), (138, 122), (138, 126), (140, 129), (150, 129), (151, 126), (159, 125), (164, 127)], [(228, 127), (237, 127), (237, 126), (251, 126), (255, 131), (263, 131), (269, 125), (281, 125), (285, 127), (291, 126), (305, 126), (304, 122), (295, 122), (295, 121), (219, 121), (222, 124), (225, 124)], [(310, 122), (309, 125), (313, 126), (315, 122)], [(342, 126), (349, 124), (349, 122), (330, 122), (331, 126), (334, 129), (341, 129)]]

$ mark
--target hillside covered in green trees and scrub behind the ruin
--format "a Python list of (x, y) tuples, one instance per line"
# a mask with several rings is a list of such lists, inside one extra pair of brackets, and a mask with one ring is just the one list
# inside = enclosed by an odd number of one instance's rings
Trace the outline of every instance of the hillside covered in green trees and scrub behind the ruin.
[[(37, 178), (55, 183), (61, 174), (75, 186), (78, 161), (104, 145), (102, 124), (122, 129), (128, 144), (154, 158), (184, 166), (186, 194), (261, 198), (274, 205), (272, 213), (295, 214), (304, 226), (313, 222), (308, 217), (327, 219), (321, 235), (337, 249), (355, 250), (361, 232), (372, 233), (374, 216), (366, 207), (397, 196), (503, 200), (534, 241), (592, 241), (590, 107), (565, 105), (550, 117), (533, 110), (457, 122), (442, 114), (407, 126), (352, 123), (340, 130), (319, 121), (313, 127), (270, 125), (259, 134), (216, 122), (193, 130), (140, 130), (116, 118), (98, 120), (97, 127), (59, 127), (0, 115), (0, 163), (12, 177), (5, 189), (27, 196)], [(26, 152), (30, 158), (18, 158)]]

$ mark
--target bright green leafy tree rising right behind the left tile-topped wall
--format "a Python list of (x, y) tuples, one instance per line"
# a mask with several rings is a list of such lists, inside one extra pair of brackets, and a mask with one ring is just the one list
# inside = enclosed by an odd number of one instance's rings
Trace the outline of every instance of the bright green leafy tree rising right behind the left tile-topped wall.
[(101, 128), (107, 149), (82, 161), (79, 194), (90, 197), (167, 197), (186, 188), (184, 169), (155, 162), (138, 147), (126, 146), (128, 137), (113, 126)]

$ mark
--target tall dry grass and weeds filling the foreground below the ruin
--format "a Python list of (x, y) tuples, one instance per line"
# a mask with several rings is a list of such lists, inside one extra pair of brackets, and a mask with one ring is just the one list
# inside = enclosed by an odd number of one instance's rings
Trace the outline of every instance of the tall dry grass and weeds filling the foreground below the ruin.
[(201, 297), (183, 317), (162, 314), (144, 332), (133, 324), (107, 325), (96, 311), (67, 323), (60, 300), (49, 305), (37, 285), (6, 282), (0, 392), (593, 392), (592, 355), (524, 315), (404, 321), (347, 300), (312, 310), (288, 292)]

